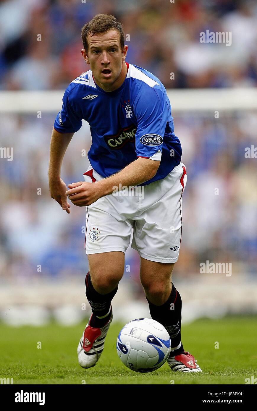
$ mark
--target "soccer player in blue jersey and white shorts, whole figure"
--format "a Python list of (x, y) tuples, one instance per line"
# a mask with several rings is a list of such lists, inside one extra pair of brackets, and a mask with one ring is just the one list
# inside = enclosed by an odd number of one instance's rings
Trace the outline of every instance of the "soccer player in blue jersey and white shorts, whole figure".
[[(98, 14), (81, 32), (90, 70), (67, 87), (50, 145), (51, 197), (70, 212), (67, 198), (86, 207), (89, 272), (86, 296), (92, 315), (77, 349), (81, 367), (93, 367), (113, 318), (111, 300), (123, 276), (130, 244), (141, 258), (140, 279), (152, 318), (171, 339), (167, 360), (174, 371), (201, 372), (181, 342), (181, 296), (171, 282), (181, 243), (186, 169), (174, 134), (166, 90), (147, 70), (125, 62), (122, 25)], [(90, 166), (84, 181), (65, 185), (63, 157), (72, 136), (90, 124)]]

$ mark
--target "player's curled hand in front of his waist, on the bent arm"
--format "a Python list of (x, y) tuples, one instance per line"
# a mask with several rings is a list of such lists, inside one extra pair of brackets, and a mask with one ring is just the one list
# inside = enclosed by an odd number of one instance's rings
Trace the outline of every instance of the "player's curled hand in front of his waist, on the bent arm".
[(79, 181), (68, 184), (68, 187), (69, 190), (66, 191), (65, 195), (74, 205), (79, 207), (93, 204), (101, 197), (100, 191), (97, 189), (97, 183)]

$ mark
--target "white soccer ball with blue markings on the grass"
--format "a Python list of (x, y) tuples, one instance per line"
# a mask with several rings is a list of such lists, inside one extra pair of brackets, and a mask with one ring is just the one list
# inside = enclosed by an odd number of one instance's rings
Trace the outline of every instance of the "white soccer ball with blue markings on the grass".
[(160, 368), (171, 350), (167, 330), (155, 320), (138, 318), (120, 331), (116, 349), (126, 367), (137, 372), (151, 372)]

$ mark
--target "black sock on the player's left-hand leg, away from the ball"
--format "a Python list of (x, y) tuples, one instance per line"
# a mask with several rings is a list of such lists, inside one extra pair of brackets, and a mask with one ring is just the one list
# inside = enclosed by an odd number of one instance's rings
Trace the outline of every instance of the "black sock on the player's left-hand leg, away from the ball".
[(85, 283), (86, 296), (93, 312), (90, 326), (97, 328), (102, 327), (111, 318), (111, 300), (118, 291), (118, 285), (110, 293), (100, 294), (93, 287), (89, 271), (86, 275)]

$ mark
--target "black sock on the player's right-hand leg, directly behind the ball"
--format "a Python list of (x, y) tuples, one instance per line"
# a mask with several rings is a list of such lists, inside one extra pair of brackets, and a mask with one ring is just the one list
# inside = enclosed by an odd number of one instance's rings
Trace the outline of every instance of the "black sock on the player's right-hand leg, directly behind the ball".
[(179, 292), (171, 283), (171, 294), (162, 305), (154, 305), (146, 298), (149, 304), (150, 314), (153, 320), (162, 324), (169, 333), (171, 349), (175, 355), (184, 351), (181, 343), (181, 309), (182, 300)]

